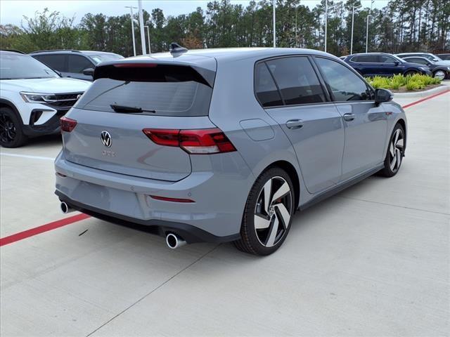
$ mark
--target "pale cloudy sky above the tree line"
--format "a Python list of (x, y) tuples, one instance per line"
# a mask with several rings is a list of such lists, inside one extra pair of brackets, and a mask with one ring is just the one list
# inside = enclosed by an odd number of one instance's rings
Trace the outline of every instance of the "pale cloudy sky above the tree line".
[[(143, 8), (151, 12), (153, 8), (161, 8), (165, 15), (179, 15), (194, 11), (197, 7), (206, 8), (210, 0), (143, 0)], [(248, 0), (232, 0), (233, 4), (246, 6)], [(302, 4), (314, 7), (318, 0), (302, 0)], [(363, 6), (370, 6), (370, 0), (362, 0)], [(383, 7), (387, 0), (375, 0), (375, 7)], [(79, 22), (86, 13), (103, 13), (109, 15), (122, 15), (129, 13), (129, 8), (124, 6), (138, 6), (137, 0), (0, 0), (0, 24), (12, 23), (20, 26), (23, 15), (34, 16), (34, 12), (49, 8), (50, 11), (58, 11)]]

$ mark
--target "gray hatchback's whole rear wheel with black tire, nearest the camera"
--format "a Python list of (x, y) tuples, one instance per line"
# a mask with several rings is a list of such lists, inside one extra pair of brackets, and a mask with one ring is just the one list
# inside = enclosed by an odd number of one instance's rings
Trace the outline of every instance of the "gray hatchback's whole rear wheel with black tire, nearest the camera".
[(260, 256), (274, 253), (289, 233), (294, 203), (288, 173), (278, 167), (264, 171), (250, 190), (236, 248)]

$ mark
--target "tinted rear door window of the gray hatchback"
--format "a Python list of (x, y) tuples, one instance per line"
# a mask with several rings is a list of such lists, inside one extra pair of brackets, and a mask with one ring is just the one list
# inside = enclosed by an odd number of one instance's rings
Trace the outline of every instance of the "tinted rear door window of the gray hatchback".
[(266, 61), (285, 105), (322, 103), (325, 93), (306, 56)]

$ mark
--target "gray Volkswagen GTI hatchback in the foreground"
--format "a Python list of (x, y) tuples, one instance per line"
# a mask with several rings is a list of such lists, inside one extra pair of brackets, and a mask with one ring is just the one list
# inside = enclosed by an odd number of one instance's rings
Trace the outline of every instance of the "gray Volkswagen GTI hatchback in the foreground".
[(234, 242), (257, 255), (283, 244), (296, 210), (394, 176), (406, 148), (390, 91), (296, 48), (105, 62), (61, 128), (63, 212), (155, 226), (171, 248)]

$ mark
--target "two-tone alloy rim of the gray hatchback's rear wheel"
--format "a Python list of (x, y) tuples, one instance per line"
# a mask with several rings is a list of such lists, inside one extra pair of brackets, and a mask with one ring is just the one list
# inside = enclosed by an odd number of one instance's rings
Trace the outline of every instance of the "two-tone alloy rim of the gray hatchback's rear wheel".
[(255, 232), (259, 243), (272, 247), (288, 231), (293, 213), (293, 194), (288, 182), (276, 176), (262, 187), (255, 206)]

